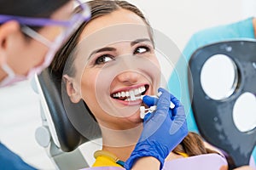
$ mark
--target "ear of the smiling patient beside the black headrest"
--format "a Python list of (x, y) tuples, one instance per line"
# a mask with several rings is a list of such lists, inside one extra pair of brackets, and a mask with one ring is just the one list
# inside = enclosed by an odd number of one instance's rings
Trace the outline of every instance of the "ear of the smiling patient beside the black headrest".
[(66, 84), (67, 95), (73, 103), (79, 103), (81, 98), (80, 90), (78, 84), (74, 81), (73, 77), (67, 75), (63, 76), (64, 82)]

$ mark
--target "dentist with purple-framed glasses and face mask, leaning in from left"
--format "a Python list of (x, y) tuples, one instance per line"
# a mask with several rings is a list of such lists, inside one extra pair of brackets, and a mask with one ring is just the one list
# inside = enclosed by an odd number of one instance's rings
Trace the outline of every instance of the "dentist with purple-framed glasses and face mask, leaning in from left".
[[(0, 88), (49, 65), (55, 50), (90, 16), (85, 8), (72, 11), (70, 0), (0, 2)], [(1, 142), (0, 162), (0, 169), (34, 169)]]

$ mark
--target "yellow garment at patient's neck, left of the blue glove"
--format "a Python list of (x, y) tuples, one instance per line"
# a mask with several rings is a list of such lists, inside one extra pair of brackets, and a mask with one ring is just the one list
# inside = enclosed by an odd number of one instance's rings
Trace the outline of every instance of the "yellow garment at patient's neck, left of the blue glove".
[(118, 158), (105, 150), (97, 150), (94, 153), (94, 157), (96, 161), (92, 165), (92, 167), (122, 167), (116, 163)]

